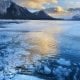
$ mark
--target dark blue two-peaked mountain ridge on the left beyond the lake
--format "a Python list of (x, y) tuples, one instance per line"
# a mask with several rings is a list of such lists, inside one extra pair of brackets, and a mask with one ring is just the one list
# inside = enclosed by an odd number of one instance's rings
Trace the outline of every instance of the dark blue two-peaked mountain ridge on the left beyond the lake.
[(5, 8), (5, 12), (0, 13), (0, 19), (54, 20), (55, 18), (50, 17), (44, 11), (31, 13), (26, 8), (10, 2), (10, 5)]

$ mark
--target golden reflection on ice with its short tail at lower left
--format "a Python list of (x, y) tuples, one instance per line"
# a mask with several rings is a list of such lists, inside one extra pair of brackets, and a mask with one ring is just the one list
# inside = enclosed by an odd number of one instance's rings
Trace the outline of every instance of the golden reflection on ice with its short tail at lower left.
[(26, 35), (26, 43), (29, 44), (27, 49), (30, 54), (28, 58), (33, 62), (33, 58), (56, 55), (57, 42), (53, 36), (47, 32), (31, 32)]

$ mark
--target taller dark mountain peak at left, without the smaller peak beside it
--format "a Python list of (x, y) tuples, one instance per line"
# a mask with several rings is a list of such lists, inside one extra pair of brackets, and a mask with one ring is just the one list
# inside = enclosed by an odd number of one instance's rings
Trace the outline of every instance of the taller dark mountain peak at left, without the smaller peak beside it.
[(26, 8), (20, 7), (11, 2), (10, 7), (7, 8), (6, 13), (0, 14), (1, 19), (31, 19), (34, 15)]

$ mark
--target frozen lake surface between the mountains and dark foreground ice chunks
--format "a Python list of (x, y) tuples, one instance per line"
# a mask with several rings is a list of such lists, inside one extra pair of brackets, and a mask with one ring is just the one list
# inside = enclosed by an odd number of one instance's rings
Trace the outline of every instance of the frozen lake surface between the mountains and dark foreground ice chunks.
[(0, 53), (9, 67), (45, 57), (80, 63), (80, 21), (0, 21)]

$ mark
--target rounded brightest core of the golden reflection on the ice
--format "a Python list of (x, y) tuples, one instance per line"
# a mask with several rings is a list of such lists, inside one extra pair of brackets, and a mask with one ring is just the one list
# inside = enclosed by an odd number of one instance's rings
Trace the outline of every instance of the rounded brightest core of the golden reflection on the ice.
[(53, 39), (52, 35), (37, 32), (28, 34), (28, 43), (32, 45), (31, 51), (34, 53), (40, 53), (41, 55), (45, 55), (47, 53), (51, 53), (54, 48), (56, 48), (56, 40)]

